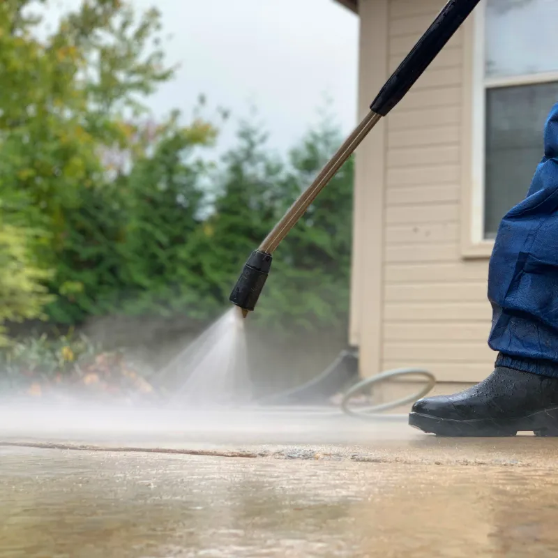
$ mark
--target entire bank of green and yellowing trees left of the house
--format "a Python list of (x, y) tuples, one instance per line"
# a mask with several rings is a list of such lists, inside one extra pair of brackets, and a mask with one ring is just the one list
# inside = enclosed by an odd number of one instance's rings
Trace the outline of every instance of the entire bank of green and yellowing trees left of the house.
[[(155, 122), (142, 104), (172, 77), (156, 10), (84, 0), (39, 38), (33, 10), (48, 5), (0, 3), (0, 324), (215, 316), (340, 142), (335, 127), (325, 119), (285, 160), (245, 122), (215, 160), (206, 119)], [(349, 160), (276, 252), (257, 319), (316, 329), (345, 318), (352, 172)]]

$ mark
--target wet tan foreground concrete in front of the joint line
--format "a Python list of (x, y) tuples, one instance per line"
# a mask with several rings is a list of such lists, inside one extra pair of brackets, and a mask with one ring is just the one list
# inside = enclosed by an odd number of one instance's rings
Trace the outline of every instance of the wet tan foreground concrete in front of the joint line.
[(547, 557), (549, 468), (0, 448), (0, 556)]

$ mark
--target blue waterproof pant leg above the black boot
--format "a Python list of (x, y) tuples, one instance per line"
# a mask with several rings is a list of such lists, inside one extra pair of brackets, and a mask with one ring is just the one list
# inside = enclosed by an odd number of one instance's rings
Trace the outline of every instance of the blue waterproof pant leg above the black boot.
[(499, 226), (488, 274), (496, 365), (558, 377), (558, 103), (527, 197)]

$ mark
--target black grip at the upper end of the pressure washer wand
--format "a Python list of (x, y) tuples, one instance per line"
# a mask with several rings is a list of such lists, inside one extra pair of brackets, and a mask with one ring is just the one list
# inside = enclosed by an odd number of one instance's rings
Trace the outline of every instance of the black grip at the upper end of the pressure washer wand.
[(376, 114), (386, 116), (405, 97), (405, 93), (430, 66), (432, 60), (467, 19), (479, 1), (449, 0), (428, 31), (418, 40), (413, 50), (407, 54), (405, 60), (400, 63), (397, 70), (382, 87), (370, 105), (370, 109)]

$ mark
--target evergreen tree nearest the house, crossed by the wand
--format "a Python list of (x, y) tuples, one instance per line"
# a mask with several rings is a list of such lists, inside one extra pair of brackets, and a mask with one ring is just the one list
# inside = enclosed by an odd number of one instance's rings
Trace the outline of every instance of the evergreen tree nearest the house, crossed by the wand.
[[(290, 153), (286, 190), (294, 198), (340, 144), (326, 117)], [(349, 306), (353, 159), (340, 169), (278, 248), (259, 319), (306, 330), (344, 322)]]

